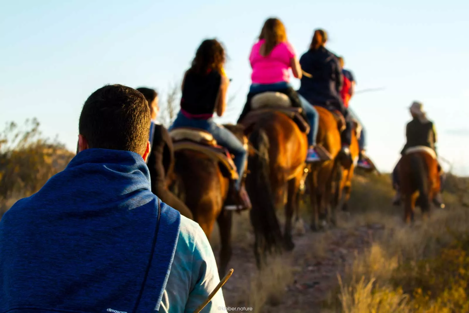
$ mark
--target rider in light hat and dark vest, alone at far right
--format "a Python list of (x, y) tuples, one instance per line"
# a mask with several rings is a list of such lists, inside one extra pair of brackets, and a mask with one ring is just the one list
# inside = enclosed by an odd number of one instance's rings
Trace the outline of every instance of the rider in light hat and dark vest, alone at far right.
[[(412, 115), (412, 121), (407, 123), (406, 126), (406, 144), (402, 148), (401, 155), (406, 153), (408, 148), (416, 146), (425, 146), (436, 151), (436, 142), (437, 142), (437, 132), (435, 130), (435, 124), (428, 120), (425, 112), (423, 111), (423, 105), (420, 102), (414, 101), (410, 106), (410, 115)], [(399, 173), (398, 173), (398, 164), (393, 169), (393, 188), (396, 190), (396, 194), (393, 198), (394, 205), (400, 205), (401, 203), (401, 192), (399, 190)], [(440, 167), (439, 167), (440, 168)], [(440, 179), (443, 179), (443, 176), (440, 176)], [(441, 182), (443, 185), (443, 182)], [(436, 206), (444, 207), (443, 201), (441, 199), (441, 194), (438, 193), (433, 202)]]

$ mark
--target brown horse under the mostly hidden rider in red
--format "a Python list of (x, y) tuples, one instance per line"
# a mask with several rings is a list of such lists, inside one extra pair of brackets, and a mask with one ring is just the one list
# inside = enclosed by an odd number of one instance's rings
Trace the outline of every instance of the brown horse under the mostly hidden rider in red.
[[(333, 210), (342, 209), (342, 211), (348, 211), (348, 200), (350, 199), (350, 193), (352, 191), (352, 177), (354, 175), (356, 161), (358, 160), (358, 139), (356, 133), (356, 124), (352, 130), (352, 142), (350, 145), (351, 159), (348, 160), (337, 160), (336, 166), (336, 182), (335, 182), (335, 193), (333, 200)], [(345, 193), (345, 195), (343, 194)], [(333, 213), (335, 215), (335, 212)]]

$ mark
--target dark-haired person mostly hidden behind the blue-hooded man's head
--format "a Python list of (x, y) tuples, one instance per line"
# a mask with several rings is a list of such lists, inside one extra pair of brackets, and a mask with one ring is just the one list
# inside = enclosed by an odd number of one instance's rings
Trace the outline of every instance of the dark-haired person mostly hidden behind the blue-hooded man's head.
[(166, 187), (166, 177), (174, 167), (173, 141), (163, 125), (155, 122), (158, 115), (158, 93), (150, 88), (137, 88), (145, 96), (151, 112), (150, 145), (147, 160), (150, 171), (151, 192), (182, 215), (193, 219), (189, 208)]

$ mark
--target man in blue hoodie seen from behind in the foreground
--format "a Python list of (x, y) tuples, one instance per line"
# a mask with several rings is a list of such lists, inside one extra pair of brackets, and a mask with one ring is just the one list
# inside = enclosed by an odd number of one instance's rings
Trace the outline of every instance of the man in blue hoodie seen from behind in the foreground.
[[(0, 312), (193, 312), (219, 283), (200, 226), (151, 192), (150, 109), (107, 85), (86, 100), (78, 153), (0, 221)], [(221, 290), (202, 312), (225, 306)]]

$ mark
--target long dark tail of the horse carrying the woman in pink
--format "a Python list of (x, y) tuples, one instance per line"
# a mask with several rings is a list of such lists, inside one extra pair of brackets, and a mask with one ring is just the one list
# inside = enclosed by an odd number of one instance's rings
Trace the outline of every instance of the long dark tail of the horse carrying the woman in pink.
[(249, 156), (249, 175), (246, 177), (246, 189), (252, 203), (251, 224), (264, 243), (265, 251), (279, 251), (282, 234), (270, 184), (269, 137), (265, 130), (257, 127), (250, 134), (249, 141), (256, 150)]

